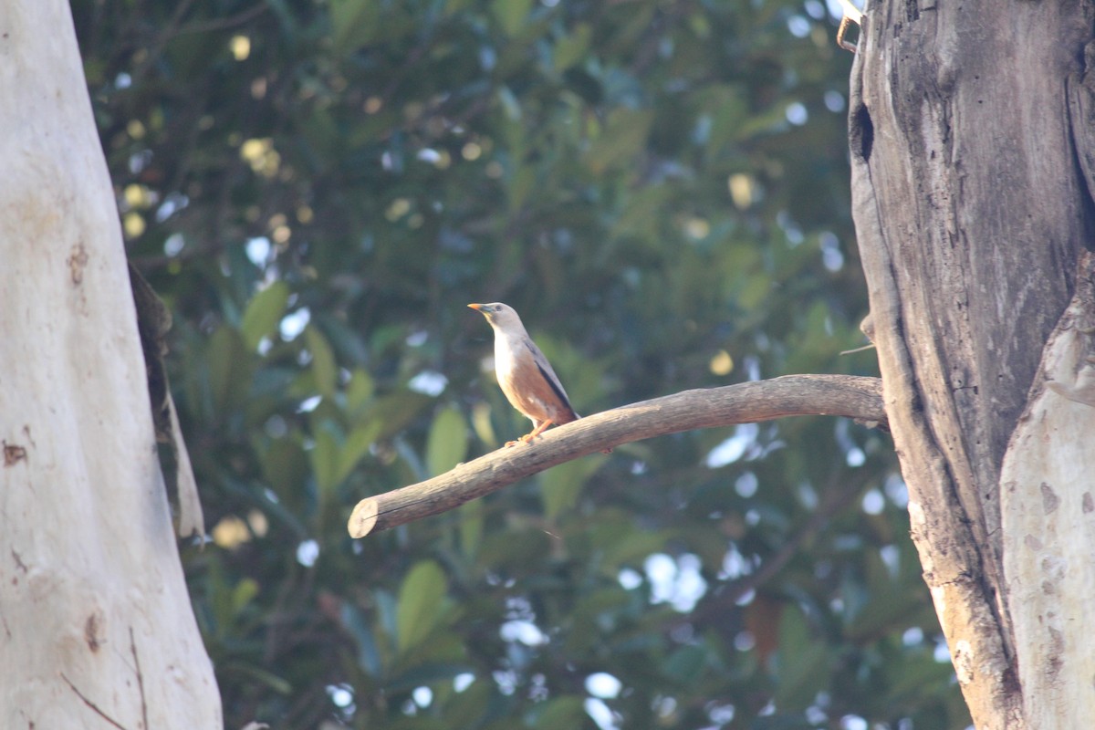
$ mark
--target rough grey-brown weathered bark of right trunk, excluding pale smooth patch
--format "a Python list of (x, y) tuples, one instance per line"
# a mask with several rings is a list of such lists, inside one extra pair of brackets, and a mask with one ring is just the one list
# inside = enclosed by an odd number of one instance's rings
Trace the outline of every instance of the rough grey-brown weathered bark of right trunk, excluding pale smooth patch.
[(887, 414), (983, 729), (1052, 727), (1024, 712), (999, 485), (1092, 237), (1067, 83), (1092, 20), (1080, 0), (875, 3), (852, 73), (853, 212)]

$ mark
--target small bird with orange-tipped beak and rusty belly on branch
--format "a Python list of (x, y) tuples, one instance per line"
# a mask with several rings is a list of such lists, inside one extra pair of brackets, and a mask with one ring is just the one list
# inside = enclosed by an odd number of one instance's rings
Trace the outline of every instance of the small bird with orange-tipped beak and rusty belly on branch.
[(494, 329), (494, 370), (510, 405), (532, 420), (532, 431), (506, 447), (532, 441), (552, 424), (569, 424), (580, 416), (558, 382), (548, 358), (521, 324), (512, 306), (502, 302), (469, 304)]

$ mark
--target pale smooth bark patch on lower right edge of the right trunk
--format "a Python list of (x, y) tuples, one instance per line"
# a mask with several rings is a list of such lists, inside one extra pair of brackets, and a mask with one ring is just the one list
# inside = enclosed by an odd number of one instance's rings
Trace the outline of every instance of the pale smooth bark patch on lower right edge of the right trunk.
[(1042, 356), (1001, 470), (1005, 594), (1029, 727), (1095, 717), (1095, 255)]

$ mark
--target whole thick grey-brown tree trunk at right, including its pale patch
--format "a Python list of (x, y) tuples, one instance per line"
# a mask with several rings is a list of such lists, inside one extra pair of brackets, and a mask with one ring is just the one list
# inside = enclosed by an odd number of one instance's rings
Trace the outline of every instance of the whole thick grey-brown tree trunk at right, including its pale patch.
[(924, 578), (978, 728), (1088, 727), (1093, 3), (868, 11), (853, 212)]

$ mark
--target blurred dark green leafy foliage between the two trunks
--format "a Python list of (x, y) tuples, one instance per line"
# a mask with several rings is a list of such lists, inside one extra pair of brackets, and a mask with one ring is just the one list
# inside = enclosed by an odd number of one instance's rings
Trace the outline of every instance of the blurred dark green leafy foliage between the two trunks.
[(581, 413), (876, 374), (852, 61), (818, 0), (73, 0), (214, 541), (226, 722), (961, 728), (885, 434), (798, 418), (558, 466), (354, 542), (528, 422), (472, 301)]

